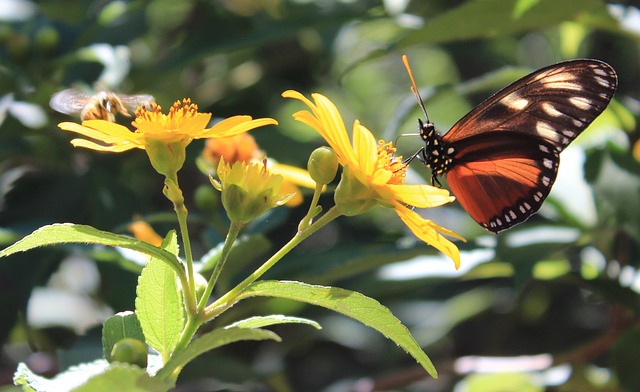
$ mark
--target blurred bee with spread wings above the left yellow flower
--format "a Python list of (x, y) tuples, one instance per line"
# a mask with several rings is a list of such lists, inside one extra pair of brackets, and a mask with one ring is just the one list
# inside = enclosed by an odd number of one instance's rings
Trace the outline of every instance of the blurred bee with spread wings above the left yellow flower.
[(59, 91), (51, 97), (49, 106), (64, 114), (80, 113), (80, 119), (116, 121), (116, 114), (131, 117), (129, 110), (135, 111), (155, 99), (151, 95), (122, 95), (110, 91), (87, 93), (70, 88)]

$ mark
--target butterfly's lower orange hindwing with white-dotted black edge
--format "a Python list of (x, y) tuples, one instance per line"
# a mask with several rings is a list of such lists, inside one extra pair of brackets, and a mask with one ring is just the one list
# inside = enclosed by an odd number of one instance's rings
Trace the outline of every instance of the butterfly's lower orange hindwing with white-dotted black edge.
[(494, 233), (538, 211), (558, 173), (553, 146), (526, 134), (476, 135), (460, 146), (464, 154), (456, 157), (447, 182), (469, 215)]

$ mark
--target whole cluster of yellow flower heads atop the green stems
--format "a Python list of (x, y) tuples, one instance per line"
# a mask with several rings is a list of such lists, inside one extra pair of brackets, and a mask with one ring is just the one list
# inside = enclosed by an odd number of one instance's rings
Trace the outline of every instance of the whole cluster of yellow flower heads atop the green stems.
[[(311, 94), (310, 100), (291, 90), (282, 95), (308, 107), (295, 113), (294, 118), (326, 140), (342, 167), (334, 195), (341, 215), (361, 214), (377, 205), (392, 208), (418, 238), (449, 256), (456, 268), (459, 266), (458, 248), (445, 236), (462, 238), (415, 211), (453, 201), (447, 190), (405, 184), (406, 165), (395, 155), (393, 144), (377, 141), (357, 120), (350, 138), (340, 112), (327, 97)], [(203, 158), (217, 168), (214, 185), (221, 190), (223, 205), (232, 221), (247, 222), (275, 206), (299, 204), (302, 199), (297, 186), (317, 186), (317, 178), (305, 170), (268, 163), (253, 138), (246, 134), (258, 127), (277, 125), (276, 120), (233, 116), (207, 128), (210, 121), (210, 113), (198, 112), (197, 105), (184, 99), (176, 101), (168, 114), (155, 103), (138, 108), (132, 123), (134, 131), (105, 120), (63, 122), (59, 127), (89, 138), (73, 139), (71, 143), (76, 147), (109, 152), (143, 149), (154, 169), (167, 179), (174, 178), (184, 164), (191, 141), (208, 139)], [(335, 169), (330, 166), (326, 170), (334, 173), (325, 176), (330, 178), (327, 183), (335, 176)], [(318, 167), (315, 171), (321, 173), (322, 164)]]

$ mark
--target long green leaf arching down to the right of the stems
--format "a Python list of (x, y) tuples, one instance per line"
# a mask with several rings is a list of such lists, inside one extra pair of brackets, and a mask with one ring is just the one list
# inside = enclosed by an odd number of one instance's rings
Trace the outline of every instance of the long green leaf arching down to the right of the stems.
[(375, 299), (337, 287), (274, 280), (255, 282), (240, 294), (241, 298), (256, 296), (292, 299), (352, 317), (393, 340), (413, 356), (432, 377), (438, 375), (433, 363), (407, 327)]

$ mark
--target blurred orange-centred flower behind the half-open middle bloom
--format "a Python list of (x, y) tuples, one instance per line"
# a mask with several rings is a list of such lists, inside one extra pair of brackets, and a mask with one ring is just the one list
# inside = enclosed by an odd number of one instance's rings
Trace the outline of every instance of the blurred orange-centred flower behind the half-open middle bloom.
[[(260, 150), (253, 136), (242, 133), (231, 137), (207, 140), (202, 151), (202, 159), (198, 165), (206, 173), (209, 170), (202, 166), (218, 167), (222, 157), (229, 164), (236, 162), (261, 163), (265, 158), (265, 153)], [(282, 175), (284, 179), (282, 192), (293, 195), (286, 203), (289, 207), (296, 207), (303, 202), (299, 186), (309, 189), (315, 188), (315, 182), (309, 176), (309, 172), (304, 169), (277, 163), (271, 159), (268, 161), (268, 166), (271, 172)]]

